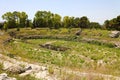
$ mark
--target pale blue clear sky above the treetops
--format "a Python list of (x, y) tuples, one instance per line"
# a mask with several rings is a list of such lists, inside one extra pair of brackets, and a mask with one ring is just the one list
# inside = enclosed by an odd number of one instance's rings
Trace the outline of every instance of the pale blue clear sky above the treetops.
[(90, 21), (104, 23), (120, 15), (120, 0), (1, 0), (1, 16), (6, 12), (24, 11), (33, 19), (39, 10), (64, 16), (87, 16)]

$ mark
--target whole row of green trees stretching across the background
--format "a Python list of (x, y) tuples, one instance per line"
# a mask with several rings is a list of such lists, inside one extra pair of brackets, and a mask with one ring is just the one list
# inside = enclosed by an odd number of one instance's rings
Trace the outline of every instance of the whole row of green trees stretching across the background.
[(0, 28), (5, 30), (9, 28), (31, 27), (31, 28), (95, 28), (95, 29), (109, 29), (120, 30), (120, 16), (112, 20), (106, 20), (104, 25), (100, 25), (98, 22), (90, 22), (86, 16), (83, 17), (70, 17), (64, 16), (63, 18), (59, 14), (54, 14), (50, 11), (37, 11), (33, 18), (33, 21), (28, 19), (26, 12), (6, 12), (2, 15), (4, 23), (0, 23)]

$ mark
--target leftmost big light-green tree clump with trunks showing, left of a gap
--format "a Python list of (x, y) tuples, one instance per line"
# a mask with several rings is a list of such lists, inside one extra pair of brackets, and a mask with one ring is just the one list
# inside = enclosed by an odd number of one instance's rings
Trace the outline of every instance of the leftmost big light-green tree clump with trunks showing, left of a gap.
[(19, 30), (20, 27), (26, 26), (26, 20), (28, 18), (25, 12), (7, 12), (2, 15), (2, 18), (6, 20), (8, 28), (17, 28)]

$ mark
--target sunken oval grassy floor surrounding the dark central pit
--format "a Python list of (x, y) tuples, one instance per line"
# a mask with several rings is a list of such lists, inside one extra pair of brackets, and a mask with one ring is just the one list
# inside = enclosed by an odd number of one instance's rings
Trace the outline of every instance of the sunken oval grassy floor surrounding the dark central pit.
[[(32, 62), (54, 64), (60, 67), (80, 69), (83, 71), (93, 70), (105, 74), (120, 74), (119, 49), (89, 43), (53, 39), (34, 39), (28, 40), (28, 42), (30, 44), (21, 41), (17, 43), (12, 42), (9, 44), (11, 49), (8, 50), (15, 56), (21, 56), (23, 59), (28, 59)], [(52, 43), (53, 45), (69, 47), (70, 50), (59, 52), (44, 49), (39, 46), (39, 44), (46, 42), (54, 42)], [(105, 65), (97, 65), (99, 60), (102, 60)]]

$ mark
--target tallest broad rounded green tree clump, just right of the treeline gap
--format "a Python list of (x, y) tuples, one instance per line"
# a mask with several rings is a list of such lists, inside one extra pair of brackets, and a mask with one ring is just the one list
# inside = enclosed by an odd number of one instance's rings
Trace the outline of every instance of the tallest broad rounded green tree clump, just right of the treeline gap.
[(61, 16), (50, 11), (37, 11), (33, 20), (34, 27), (59, 28), (61, 26)]

